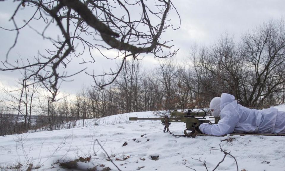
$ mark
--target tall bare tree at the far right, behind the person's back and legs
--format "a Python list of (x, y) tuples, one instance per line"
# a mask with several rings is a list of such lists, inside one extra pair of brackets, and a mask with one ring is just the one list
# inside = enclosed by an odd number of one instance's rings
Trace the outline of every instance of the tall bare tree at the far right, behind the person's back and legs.
[(284, 21), (270, 21), (243, 37), (245, 58), (252, 73), (242, 82), (248, 106), (260, 106), (273, 94), (284, 91), (284, 29)]

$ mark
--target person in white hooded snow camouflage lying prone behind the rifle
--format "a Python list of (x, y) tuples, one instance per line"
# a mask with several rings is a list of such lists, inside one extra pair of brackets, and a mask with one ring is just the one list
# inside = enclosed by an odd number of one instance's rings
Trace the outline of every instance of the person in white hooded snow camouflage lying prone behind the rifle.
[(244, 107), (231, 94), (223, 93), (210, 102), (214, 117), (221, 116), (218, 124), (200, 124), (198, 131), (221, 136), (229, 133), (285, 134), (285, 112), (274, 107), (256, 110)]

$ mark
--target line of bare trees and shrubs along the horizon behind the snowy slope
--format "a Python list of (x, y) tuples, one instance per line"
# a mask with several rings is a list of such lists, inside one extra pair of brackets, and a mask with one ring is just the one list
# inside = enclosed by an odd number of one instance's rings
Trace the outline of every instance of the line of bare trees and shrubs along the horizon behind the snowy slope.
[[(40, 85), (34, 82), (31, 87), (23, 81), (18, 94), (6, 91), (13, 97), (12, 105), (6, 107), (23, 116), (21, 131), (27, 131), (31, 129), (31, 114), (44, 116), (33, 129), (54, 130), (77, 119), (208, 107), (210, 100), (221, 93), (242, 99), (240, 103), (246, 107), (284, 103), (284, 29), (283, 21), (270, 21), (245, 33), (239, 42), (226, 34), (212, 46), (189, 47), (191, 52), (183, 65), (173, 58), (162, 59), (157, 68), (143, 71), (139, 61), (127, 60), (113, 84), (100, 91), (82, 88), (76, 99), (66, 97), (58, 102), (42, 99), (37, 94)], [(20, 131), (14, 131), (17, 132)]]

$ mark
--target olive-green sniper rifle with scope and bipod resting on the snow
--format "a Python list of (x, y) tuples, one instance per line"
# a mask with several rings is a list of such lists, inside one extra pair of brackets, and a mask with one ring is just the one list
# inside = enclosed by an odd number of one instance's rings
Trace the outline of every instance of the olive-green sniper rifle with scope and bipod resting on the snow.
[[(198, 133), (198, 126), (202, 123), (208, 123), (213, 124), (211, 121), (207, 120), (205, 116), (207, 115), (206, 111), (201, 109), (202, 111), (195, 111), (188, 110), (187, 112), (178, 112), (177, 110), (174, 110), (170, 112), (170, 117), (164, 116), (163, 118), (137, 118), (137, 117), (129, 117), (129, 121), (137, 121), (137, 120), (160, 120), (162, 122), (162, 125), (164, 125), (164, 131), (163, 132), (169, 132), (172, 135), (172, 132), (169, 130), (169, 126), (171, 122), (184, 122), (186, 123), (186, 129), (184, 130), (184, 135), (175, 135), (175, 136), (183, 136), (183, 137), (193, 137), (195, 138)], [(215, 118), (215, 124), (218, 123), (220, 118), (216, 117), (210, 117)], [(187, 131), (191, 131), (188, 133)]]

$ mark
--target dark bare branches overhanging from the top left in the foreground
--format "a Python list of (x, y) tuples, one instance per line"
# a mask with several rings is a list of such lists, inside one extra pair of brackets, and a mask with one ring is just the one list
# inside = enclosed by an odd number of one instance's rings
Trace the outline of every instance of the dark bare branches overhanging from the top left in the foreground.
[[(170, 0), (18, 0), (14, 2), (18, 5), (10, 20), (15, 28), (1, 28), (16, 31), (16, 39), (9, 48), (6, 59), (2, 61), (0, 70), (32, 71), (27, 79), (36, 77), (37, 81), (42, 82), (50, 91), (53, 100), (56, 99), (61, 81), (85, 70), (68, 75), (60, 68), (66, 68), (74, 57), (82, 57), (80, 62), (82, 64), (94, 63), (96, 58), (92, 50), (98, 50), (108, 59), (118, 57), (123, 59), (117, 71), (111, 70), (103, 75), (87, 73), (94, 78), (97, 88), (113, 83), (128, 57), (136, 59), (141, 53), (152, 53), (153, 56), (163, 58), (171, 57), (177, 52), (172, 50), (165, 53), (163, 48), (170, 48), (167, 43), (171, 40), (160, 40), (166, 29), (177, 29), (167, 20), (170, 9), (176, 11)], [(35, 12), (30, 18), (26, 18), (23, 24), (18, 23), (16, 18), (20, 17), (19, 13), (26, 10)], [(36, 25), (32, 25), (32, 20), (38, 20), (45, 25), (45, 28), (39, 30)], [(19, 26), (20, 24), (22, 25)], [(47, 30), (52, 29), (52, 26), (59, 29), (56, 36), (48, 35)], [(16, 46), (18, 36), (25, 27), (30, 27), (44, 39), (50, 40), (53, 47), (47, 47), (46, 52), (38, 52), (37, 56), (27, 59), (23, 65), (17, 60), (16, 63), (12, 63), (9, 61), (9, 53)], [(55, 31), (52, 33), (55, 34)], [(118, 55), (106, 56), (104, 51), (111, 49), (117, 50)], [(110, 76), (110, 80), (103, 83), (98, 81), (97, 76)]]

